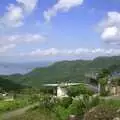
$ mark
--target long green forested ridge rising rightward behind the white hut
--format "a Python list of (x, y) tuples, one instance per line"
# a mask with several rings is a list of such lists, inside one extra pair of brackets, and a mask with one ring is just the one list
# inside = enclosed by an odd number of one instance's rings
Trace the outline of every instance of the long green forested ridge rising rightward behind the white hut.
[[(18, 75), (18, 79), (14, 75), (7, 78), (31, 86), (68, 80), (80, 82), (85, 80), (86, 73), (96, 72), (102, 68), (115, 70), (115, 66), (120, 66), (120, 56), (98, 57), (94, 60), (61, 61), (48, 67), (36, 68), (23, 76)], [(118, 70), (120, 70), (119, 68)]]

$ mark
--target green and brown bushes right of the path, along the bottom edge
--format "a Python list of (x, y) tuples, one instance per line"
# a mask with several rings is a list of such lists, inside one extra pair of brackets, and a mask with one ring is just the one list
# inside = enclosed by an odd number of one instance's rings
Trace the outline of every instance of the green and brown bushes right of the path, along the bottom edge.
[(50, 102), (48, 96), (44, 100), (40, 106), (32, 108), (22, 116), (14, 117), (12, 120), (67, 120), (70, 115), (75, 115), (78, 120), (120, 118), (120, 101), (118, 100), (100, 100), (95, 97), (91, 101), (86, 98), (71, 101), (71, 98), (64, 98), (53, 103)]

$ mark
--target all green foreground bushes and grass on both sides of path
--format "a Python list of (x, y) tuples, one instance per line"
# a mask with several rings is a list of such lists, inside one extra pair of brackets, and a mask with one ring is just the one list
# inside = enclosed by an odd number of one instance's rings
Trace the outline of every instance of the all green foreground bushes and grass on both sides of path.
[(101, 97), (95, 97), (93, 92), (84, 85), (68, 87), (69, 97), (62, 99), (40, 92), (41, 89), (22, 89), (20, 94), (17, 94), (18, 99), (11, 102), (0, 101), (0, 112), (11, 111), (39, 101), (37, 106), (25, 114), (10, 119), (67, 120), (70, 115), (75, 115), (78, 120), (83, 118), (85, 120), (113, 120), (119, 117), (119, 100), (104, 100)]

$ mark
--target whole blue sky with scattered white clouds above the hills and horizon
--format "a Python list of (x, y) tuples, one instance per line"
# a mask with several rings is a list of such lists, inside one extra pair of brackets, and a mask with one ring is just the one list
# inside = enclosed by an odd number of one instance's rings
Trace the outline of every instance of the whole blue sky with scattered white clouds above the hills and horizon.
[(120, 0), (1, 0), (0, 61), (120, 55)]

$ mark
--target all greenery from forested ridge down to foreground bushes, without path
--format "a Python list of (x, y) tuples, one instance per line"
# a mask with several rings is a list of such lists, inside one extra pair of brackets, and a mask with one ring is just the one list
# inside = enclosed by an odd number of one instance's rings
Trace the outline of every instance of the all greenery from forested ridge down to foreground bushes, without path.
[[(107, 69), (106, 69), (107, 68)], [(91, 61), (63, 61), (44, 68), (36, 68), (32, 72), (20, 75), (0, 77), (0, 90), (12, 93), (13, 101), (0, 100), (0, 113), (38, 103), (22, 116), (12, 120), (67, 120), (75, 115), (84, 120), (113, 120), (120, 117), (120, 101), (104, 100), (95, 97), (94, 92), (84, 85), (67, 87), (69, 97), (54, 97), (52, 88), (39, 87), (43, 83), (56, 83), (71, 80), (85, 82), (85, 74), (99, 72), (97, 82), (100, 83), (100, 95), (106, 96), (105, 86), (113, 72), (120, 71), (120, 57), (101, 57)], [(120, 85), (120, 79), (113, 82)], [(29, 87), (25, 86), (28, 85)], [(30, 87), (32, 86), (32, 87)], [(39, 87), (39, 88), (37, 88)], [(16, 92), (18, 91), (18, 92)]]

